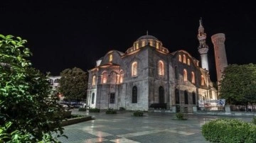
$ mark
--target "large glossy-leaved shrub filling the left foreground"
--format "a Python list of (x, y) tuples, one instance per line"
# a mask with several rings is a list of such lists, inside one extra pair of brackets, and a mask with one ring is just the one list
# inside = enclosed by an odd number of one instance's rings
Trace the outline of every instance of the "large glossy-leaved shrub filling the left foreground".
[(46, 75), (31, 67), (27, 41), (0, 35), (0, 142), (58, 142), (63, 109)]

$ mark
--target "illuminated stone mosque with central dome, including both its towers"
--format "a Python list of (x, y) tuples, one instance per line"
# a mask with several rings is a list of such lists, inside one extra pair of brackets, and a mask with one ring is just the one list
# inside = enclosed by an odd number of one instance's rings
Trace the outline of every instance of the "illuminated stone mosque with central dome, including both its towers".
[[(225, 35), (211, 37), (218, 81), (227, 66)], [(193, 112), (198, 100), (214, 100), (218, 91), (210, 81), (208, 45), (202, 21), (198, 28), (201, 61), (185, 50), (169, 52), (161, 40), (143, 35), (126, 52), (111, 50), (89, 70), (87, 105), (90, 108)]]

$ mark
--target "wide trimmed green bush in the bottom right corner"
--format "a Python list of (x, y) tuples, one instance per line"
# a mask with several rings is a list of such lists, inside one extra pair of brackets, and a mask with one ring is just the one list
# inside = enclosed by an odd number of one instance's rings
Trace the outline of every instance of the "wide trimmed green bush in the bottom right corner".
[(256, 126), (236, 119), (206, 122), (202, 134), (210, 142), (256, 142)]

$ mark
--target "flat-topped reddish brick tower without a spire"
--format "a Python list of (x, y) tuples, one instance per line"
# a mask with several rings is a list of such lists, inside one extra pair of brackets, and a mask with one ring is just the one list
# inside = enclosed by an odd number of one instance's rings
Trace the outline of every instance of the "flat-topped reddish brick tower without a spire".
[(223, 75), (222, 72), (224, 68), (228, 66), (227, 56), (225, 53), (225, 44), (224, 44), (225, 34), (218, 33), (218, 34), (212, 35), (211, 40), (214, 45), (217, 80), (219, 85)]

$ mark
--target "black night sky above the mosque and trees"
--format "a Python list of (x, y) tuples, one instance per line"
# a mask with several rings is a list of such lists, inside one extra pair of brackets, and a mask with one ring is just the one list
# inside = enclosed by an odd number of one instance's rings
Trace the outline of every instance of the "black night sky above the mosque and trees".
[(200, 17), (208, 35), (210, 75), (215, 77), (210, 36), (225, 33), (228, 64), (256, 64), (256, 11), (242, 1), (1, 1), (0, 33), (28, 40), (33, 67), (58, 75), (84, 71), (110, 50), (125, 52), (142, 35), (154, 35), (170, 52), (196, 59)]

